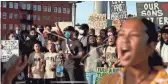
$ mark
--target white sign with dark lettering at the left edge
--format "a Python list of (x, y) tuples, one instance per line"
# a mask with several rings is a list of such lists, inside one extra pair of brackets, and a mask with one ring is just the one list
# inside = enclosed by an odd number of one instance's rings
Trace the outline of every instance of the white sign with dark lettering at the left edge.
[(18, 40), (2, 40), (1, 41), (1, 61), (7, 62), (13, 55), (19, 56)]

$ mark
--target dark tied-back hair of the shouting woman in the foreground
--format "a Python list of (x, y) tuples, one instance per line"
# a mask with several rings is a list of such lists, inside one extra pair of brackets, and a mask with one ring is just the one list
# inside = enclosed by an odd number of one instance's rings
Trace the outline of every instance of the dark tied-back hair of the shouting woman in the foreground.
[[(134, 18), (140, 20), (144, 26), (147, 28), (146, 33), (149, 37), (147, 44), (150, 44), (151, 42), (157, 42), (158, 34), (155, 29), (155, 24), (151, 22), (150, 20), (146, 18)], [(162, 61), (161, 56), (157, 53), (157, 51), (154, 51), (151, 56), (148, 58), (148, 64), (151, 69), (153, 69), (154, 66), (164, 66), (164, 63)]]

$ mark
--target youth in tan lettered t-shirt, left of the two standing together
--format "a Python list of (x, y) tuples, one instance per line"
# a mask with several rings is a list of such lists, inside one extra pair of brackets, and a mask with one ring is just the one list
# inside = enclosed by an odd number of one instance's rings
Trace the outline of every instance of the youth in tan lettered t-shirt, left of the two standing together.
[(28, 59), (28, 77), (33, 78), (32, 82), (42, 83), (44, 77), (44, 54), (40, 51), (40, 44), (34, 44), (34, 52), (29, 55)]

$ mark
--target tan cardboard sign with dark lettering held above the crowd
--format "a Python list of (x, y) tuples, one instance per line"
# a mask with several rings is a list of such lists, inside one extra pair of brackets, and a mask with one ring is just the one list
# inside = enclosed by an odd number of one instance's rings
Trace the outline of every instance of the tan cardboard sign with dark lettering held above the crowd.
[(101, 29), (105, 29), (107, 27), (106, 14), (89, 15), (88, 25), (89, 28), (95, 29), (95, 33), (98, 35)]

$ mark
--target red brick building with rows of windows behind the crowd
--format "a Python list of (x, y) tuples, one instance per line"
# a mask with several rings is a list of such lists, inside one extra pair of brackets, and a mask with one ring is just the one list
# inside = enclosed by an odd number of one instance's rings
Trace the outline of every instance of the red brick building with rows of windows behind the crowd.
[(52, 25), (72, 21), (72, 4), (68, 1), (2, 1), (1, 39), (19, 26), (29, 30), (31, 25)]

